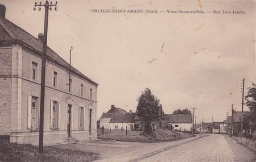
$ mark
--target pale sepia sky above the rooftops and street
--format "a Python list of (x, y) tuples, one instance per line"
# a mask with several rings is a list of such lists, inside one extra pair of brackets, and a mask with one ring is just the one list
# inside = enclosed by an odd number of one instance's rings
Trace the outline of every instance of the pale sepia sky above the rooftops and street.
[[(43, 32), (44, 7), (33, 11), (35, 2), (0, 0), (6, 18), (37, 38)], [(67, 62), (74, 47), (72, 66), (99, 84), (97, 118), (111, 105), (135, 112), (139, 95), (149, 88), (165, 114), (196, 107), (197, 123), (211, 122), (212, 116), (222, 122), (232, 103), (241, 111), (242, 79), (245, 94), (256, 82), (253, 1), (60, 0), (57, 7), (49, 11), (47, 45)], [(223, 10), (245, 14), (222, 14)]]

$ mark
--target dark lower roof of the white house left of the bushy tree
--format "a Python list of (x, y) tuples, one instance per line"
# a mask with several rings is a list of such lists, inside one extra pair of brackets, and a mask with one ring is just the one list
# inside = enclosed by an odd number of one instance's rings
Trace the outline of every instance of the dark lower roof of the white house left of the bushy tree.
[(103, 113), (101, 118), (111, 118), (110, 123), (134, 123), (135, 113)]

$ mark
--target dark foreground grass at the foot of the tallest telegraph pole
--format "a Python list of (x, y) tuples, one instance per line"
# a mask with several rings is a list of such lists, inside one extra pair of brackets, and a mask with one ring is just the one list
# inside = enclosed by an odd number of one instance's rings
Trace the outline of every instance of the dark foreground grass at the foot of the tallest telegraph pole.
[(0, 161), (93, 161), (96, 159), (98, 154), (93, 152), (46, 146), (43, 153), (38, 153), (38, 146), (0, 140)]

